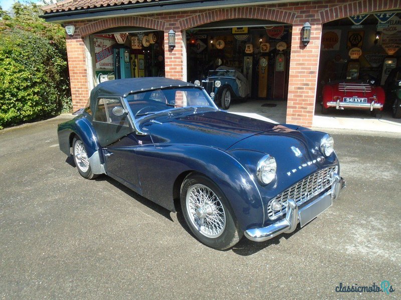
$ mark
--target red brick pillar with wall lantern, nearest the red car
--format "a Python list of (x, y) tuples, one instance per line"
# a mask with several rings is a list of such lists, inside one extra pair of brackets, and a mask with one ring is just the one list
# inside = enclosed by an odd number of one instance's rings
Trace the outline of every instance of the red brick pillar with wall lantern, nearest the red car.
[(310, 127), (315, 109), (322, 25), (312, 24), (311, 40), (306, 46), (301, 42), (302, 26), (303, 22), (292, 26), (287, 123)]

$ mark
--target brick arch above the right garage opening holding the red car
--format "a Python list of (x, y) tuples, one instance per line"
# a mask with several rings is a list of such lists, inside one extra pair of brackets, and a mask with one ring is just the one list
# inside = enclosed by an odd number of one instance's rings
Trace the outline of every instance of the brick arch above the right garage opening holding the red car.
[(350, 15), (399, 8), (400, 5), (401, 0), (360, 0), (322, 10), (320, 11), (320, 18), (322, 23), (326, 23)]

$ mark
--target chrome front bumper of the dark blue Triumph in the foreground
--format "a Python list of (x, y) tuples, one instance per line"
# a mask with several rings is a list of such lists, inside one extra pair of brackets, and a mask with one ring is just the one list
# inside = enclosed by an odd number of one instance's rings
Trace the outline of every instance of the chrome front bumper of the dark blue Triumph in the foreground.
[[(335, 175), (335, 180), (333, 181), (331, 188), (329, 191), (325, 192), (323, 195), (319, 196), (312, 202), (308, 203), (302, 208), (298, 208), (297, 203), (293, 199), (287, 200), (287, 213), (284, 219), (281, 219), (269, 226), (262, 227), (262, 228), (253, 228), (248, 229), (244, 232), (245, 236), (253, 241), (264, 241), (270, 238), (273, 238), (281, 233), (291, 233), (295, 230), (298, 223), (301, 220), (301, 214), (307, 214), (306, 218), (308, 219), (305, 223), (301, 222), (301, 226), (305, 225), (307, 222), (314, 219), (318, 214), (323, 212), (323, 210), (319, 210), (321, 203), (327, 201), (328, 198), (330, 201), (337, 199), (338, 194), (340, 193), (341, 189), (345, 187), (345, 180)], [(331, 203), (330, 203), (331, 205)], [(329, 206), (330, 206), (329, 205)], [(316, 214), (313, 214), (313, 209), (316, 207)], [(310, 213), (312, 212), (312, 215)], [(305, 218), (305, 216), (303, 216)]]

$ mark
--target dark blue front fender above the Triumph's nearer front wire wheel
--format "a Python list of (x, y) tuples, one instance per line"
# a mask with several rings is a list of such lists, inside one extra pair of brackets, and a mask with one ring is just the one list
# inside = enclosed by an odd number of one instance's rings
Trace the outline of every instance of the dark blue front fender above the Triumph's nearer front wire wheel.
[(197, 171), (226, 195), (240, 228), (261, 226), (264, 207), (253, 177), (230, 153), (208, 146), (144, 145), (136, 149), (142, 195), (173, 210), (175, 179)]

